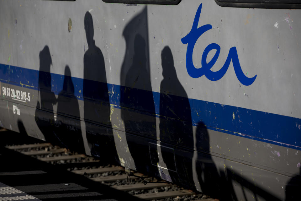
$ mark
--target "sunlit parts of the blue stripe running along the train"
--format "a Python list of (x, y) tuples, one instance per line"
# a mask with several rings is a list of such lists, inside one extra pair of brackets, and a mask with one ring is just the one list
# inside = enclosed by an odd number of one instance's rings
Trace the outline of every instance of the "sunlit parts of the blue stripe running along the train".
[[(37, 70), (0, 64), (0, 81), (4, 83), (38, 90), (38, 76), (39, 71)], [(83, 100), (83, 79), (75, 77), (71, 77), (71, 79), (75, 89), (74, 95), (77, 99)], [(51, 73), (51, 80), (51, 90), (55, 94), (59, 94), (63, 88), (64, 75)], [(143, 105), (137, 106), (133, 103), (120, 102), (120, 91), (125, 90), (126, 87), (124, 86), (91, 81), (91, 88), (95, 86), (107, 86), (110, 104), (113, 104), (117, 108), (129, 107), (153, 115), (160, 114), (160, 93), (158, 92), (152, 92), (154, 100), (145, 100)], [(86, 91), (85, 98), (98, 101), (108, 100), (101, 97), (101, 95), (92, 93), (93, 90), (91, 92)], [(140, 97), (144, 97), (144, 94), (147, 93), (149, 91), (140, 89), (131, 90), (131, 94), (136, 94)], [(182, 98), (174, 95), (170, 96), (173, 101)], [(150, 104), (152, 101), (155, 102), (156, 114), (149, 107), (152, 105)], [(189, 103), (193, 125), (202, 121), (211, 130), (301, 150), (301, 119), (299, 118), (196, 99), (189, 99)], [(233, 118), (233, 113), (235, 118)], [(172, 117), (172, 113), (167, 114), (167, 116)]]

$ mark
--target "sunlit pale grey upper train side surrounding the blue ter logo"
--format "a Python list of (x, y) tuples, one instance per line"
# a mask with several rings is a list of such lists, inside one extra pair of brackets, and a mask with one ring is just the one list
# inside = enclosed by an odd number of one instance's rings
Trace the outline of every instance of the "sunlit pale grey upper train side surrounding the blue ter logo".
[[(82, 77), (82, 58), (87, 47), (84, 15), (90, 11), (94, 40), (105, 58), (107, 80), (120, 84), (119, 73), (126, 48), (123, 31), (131, 19), (145, 9), (144, 5), (125, 6), (99, 1), (22, 2), (2, 2), (1, 63), (39, 69), (39, 52), (48, 45), (53, 62), (51, 71), (64, 74), (63, 67), (68, 64), (72, 76)], [(191, 30), (200, 3), (203, 7), (198, 24), (211, 24), (213, 29), (198, 39), (193, 52), (195, 65), (200, 66), (200, 55), (205, 47), (217, 43), (221, 53), (212, 70), (218, 70), (230, 47), (235, 46), (243, 72), (248, 73), (248, 77), (257, 75), (251, 86), (244, 86), (237, 80), (232, 65), (218, 81), (209, 81), (204, 76), (192, 79), (187, 74), (187, 45), (182, 44), (181, 38)], [(13, 12), (9, 8), (14, 8)], [(169, 15), (162, 18), (162, 12)], [(110, 13), (114, 15), (110, 16)], [(69, 17), (72, 20), (70, 33)], [(296, 58), (300, 54), (298, 33), (301, 25), (294, 20), (300, 17), (299, 10), (224, 8), (214, 1), (187, 1), (176, 6), (149, 5), (147, 17), (153, 91), (160, 91), (161, 51), (167, 45), (172, 50), (179, 81), (189, 98), (301, 117), (297, 101), (301, 95), (297, 87), (300, 79), (296, 77), (300, 73), (300, 60)]]

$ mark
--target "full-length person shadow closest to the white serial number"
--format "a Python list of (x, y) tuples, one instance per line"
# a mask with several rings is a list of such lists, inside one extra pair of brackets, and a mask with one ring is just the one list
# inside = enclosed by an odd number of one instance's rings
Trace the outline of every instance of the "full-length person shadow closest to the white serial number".
[(45, 140), (53, 144), (60, 144), (54, 133), (53, 105), (57, 103), (57, 100), (54, 92), (51, 91), (50, 66), (52, 60), (48, 46), (40, 51), (39, 58), (38, 93), (40, 93), (40, 101), (37, 101), (34, 118)]

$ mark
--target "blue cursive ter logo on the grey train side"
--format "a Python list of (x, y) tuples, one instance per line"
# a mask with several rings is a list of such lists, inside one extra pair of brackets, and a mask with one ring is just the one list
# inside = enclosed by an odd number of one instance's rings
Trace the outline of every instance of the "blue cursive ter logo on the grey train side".
[[(203, 33), (205, 33), (206, 31), (208, 31), (210, 29), (212, 29), (211, 24), (205, 24), (205, 25), (198, 28), (198, 21), (200, 19), (201, 10), (202, 10), (202, 3), (198, 7), (197, 13), (195, 14), (191, 31), (185, 37), (183, 37), (181, 39), (183, 44), (188, 44), (187, 45), (187, 52), (186, 52), (187, 73), (192, 78), (199, 78), (199, 77), (205, 75), (207, 79), (209, 79), (211, 81), (217, 81), (217, 80), (221, 79), (224, 76), (224, 74), (228, 70), (230, 62), (232, 60), (236, 77), (238, 78), (240, 83), (243, 84), (243, 85), (246, 85), (246, 86), (252, 84), (255, 81), (257, 75), (255, 75), (252, 78), (248, 78), (248, 77), (245, 76), (245, 74), (242, 72), (241, 67), (240, 67), (236, 47), (231, 47), (230, 48), (228, 57), (227, 57), (224, 65), (223, 65), (223, 67), (215, 72), (215, 71), (211, 71), (210, 69), (213, 67), (213, 65), (215, 64), (215, 62), (217, 61), (217, 59), (219, 57), (220, 46), (216, 43), (211, 43), (205, 48), (205, 50), (203, 52), (202, 59), (201, 59), (202, 68), (195, 68), (194, 67), (193, 61), (192, 61), (192, 54), (193, 54), (193, 48), (195, 46), (195, 43), (197, 42), (198, 38)], [(216, 50), (215, 55), (207, 63), (207, 55), (213, 49)]]

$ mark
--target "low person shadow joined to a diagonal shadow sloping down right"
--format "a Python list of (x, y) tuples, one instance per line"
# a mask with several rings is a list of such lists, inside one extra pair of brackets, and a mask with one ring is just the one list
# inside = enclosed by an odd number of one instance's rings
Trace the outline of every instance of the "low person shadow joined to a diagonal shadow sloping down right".
[[(198, 122), (196, 129), (196, 147), (201, 152), (198, 152), (198, 159), (196, 161), (196, 169), (198, 175), (198, 182), (201, 191), (206, 195), (218, 198), (220, 200), (249, 200), (250, 193), (254, 200), (279, 200), (279, 198), (266, 192), (265, 190), (243, 177), (242, 172), (235, 172), (231, 167), (225, 167), (225, 171), (219, 170), (213, 157), (217, 160), (220, 157), (210, 155), (210, 139), (208, 130), (203, 122)], [(241, 166), (241, 171), (248, 173), (249, 166)], [(255, 175), (254, 175), (255, 176)], [(235, 190), (237, 195), (235, 193)]]

